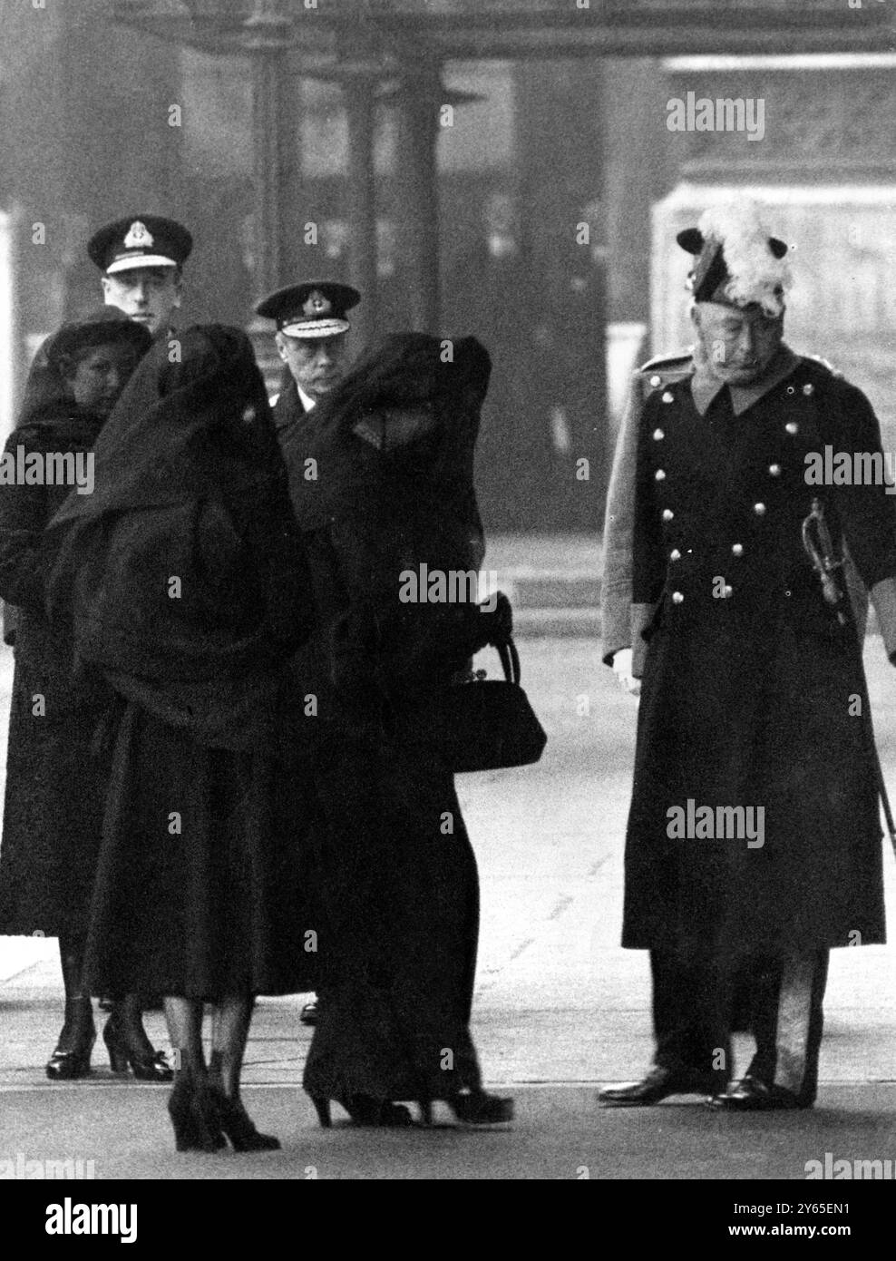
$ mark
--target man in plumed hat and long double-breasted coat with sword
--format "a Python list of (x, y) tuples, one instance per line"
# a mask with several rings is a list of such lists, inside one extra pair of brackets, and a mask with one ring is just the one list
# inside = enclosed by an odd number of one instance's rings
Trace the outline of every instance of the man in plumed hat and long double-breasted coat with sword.
[[(604, 661), (640, 686), (623, 944), (650, 951), (654, 1064), (615, 1106), (815, 1100), (828, 952), (885, 939), (861, 639), (896, 663), (896, 507), (814, 484), (882, 462), (864, 395), (783, 340), (788, 246), (744, 200), (678, 236), (696, 344), (635, 375), (607, 499)], [(833, 479), (832, 479), (833, 482)], [(756, 1053), (732, 1083), (731, 994)]]

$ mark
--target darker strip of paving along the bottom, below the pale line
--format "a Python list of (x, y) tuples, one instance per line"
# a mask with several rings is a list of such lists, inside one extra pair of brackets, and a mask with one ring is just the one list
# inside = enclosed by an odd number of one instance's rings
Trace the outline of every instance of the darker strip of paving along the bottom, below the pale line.
[[(63, 1086), (5, 1091), (0, 1160), (73, 1161), (96, 1179), (785, 1179), (807, 1163), (896, 1161), (896, 1086), (837, 1086), (809, 1112), (718, 1113), (697, 1098), (654, 1108), (602, 1108), (581, 1086), (518, 1086), (508, 1126), (364, 1130), (334, 1115), (321, 1130), (296, 1087), (256, 1087), (246, 1103), (277, 1153), (176, 1153), (165, 1091)], [(335, 1110), (338, 1113), (338, 1110)], [(77, 1161), (81, 1161), (78, 1166)], [(91, 1164), (92, 1163), (92, 1164)], [(812, 1169), (812, 1166), (809, 1166)]]

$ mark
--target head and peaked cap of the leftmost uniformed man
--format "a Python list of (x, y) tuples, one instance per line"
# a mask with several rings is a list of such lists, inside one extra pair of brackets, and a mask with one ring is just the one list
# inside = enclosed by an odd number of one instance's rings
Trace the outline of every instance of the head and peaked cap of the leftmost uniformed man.
[(116, 219), (87, 242), (87, 252), (102, 271), (106, 305), (144, 324), (152, 337), (173, 329), (183, 298), (183, 266), (192, 248), (187, 228), (160, 214)]

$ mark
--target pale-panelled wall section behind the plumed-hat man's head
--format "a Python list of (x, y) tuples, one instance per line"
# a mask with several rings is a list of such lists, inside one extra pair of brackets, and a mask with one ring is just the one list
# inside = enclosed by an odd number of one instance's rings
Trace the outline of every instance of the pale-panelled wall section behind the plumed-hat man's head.
[(746, 126), (669, 134), (679, 182), (653, 214), (654, 351), (692, 340), (689, 262), (675, 233), (711, 203), (749, 193), (793, 248), (788, 342), (829, 359), (868, 395), (892, 450), (896, 132), (885, 120), (896, 112), (896, 55), (789, 58), (785, 67), (745, 57), (721, 69), (674, 59), (667, 71), (669, 97), (687, 103), (694, 93), (694, 119), (702, 98), (762, 101), (764, 135), (751, 141)]

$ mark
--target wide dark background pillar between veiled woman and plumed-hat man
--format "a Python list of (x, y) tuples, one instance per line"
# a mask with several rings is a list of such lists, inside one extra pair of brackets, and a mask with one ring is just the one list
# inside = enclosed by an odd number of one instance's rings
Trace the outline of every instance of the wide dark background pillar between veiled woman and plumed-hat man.
[[(549, 431), (552, 472), (542, 480), (552, 509), (544, 527), (596, 531), (604, 516), (612, 440), (606, 324), (607, 262), (615, 259), (607, 255), (612, 185), (606, 161), (611, 117), (605, 64), (567, 62), (561, 74), (556, 64), (544, 62), (518, 69), (515, 78), (533, 333), (547, 352), (531, 391), (533, 410), (547, 416)], [(537, 347), (533, 351), (538, 353)]]

